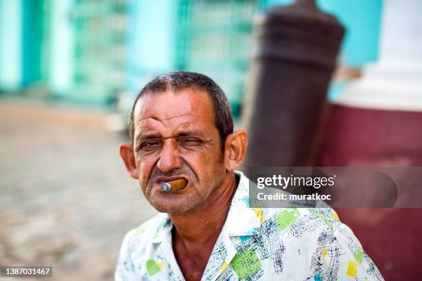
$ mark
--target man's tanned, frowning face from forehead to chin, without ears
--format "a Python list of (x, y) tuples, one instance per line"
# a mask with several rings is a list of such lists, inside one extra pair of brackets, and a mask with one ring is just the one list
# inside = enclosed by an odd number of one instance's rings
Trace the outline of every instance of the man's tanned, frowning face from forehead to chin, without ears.
[[(210, 96), (197, 89), (146, 94), (134, 110), (134, 154), (143, 194), (158, 211), (183, 214), (221, 185), (225, 167)], [(170, 194), (165, 181), (188, 185)]]

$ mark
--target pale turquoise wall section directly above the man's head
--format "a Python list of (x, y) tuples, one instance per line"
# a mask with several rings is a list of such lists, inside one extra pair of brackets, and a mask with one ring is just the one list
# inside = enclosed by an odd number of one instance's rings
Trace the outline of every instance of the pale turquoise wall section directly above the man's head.
[(130, 1), (128, 7), (128, 90), (136, 94), (155, 76), (174, 69), (177, 1)]

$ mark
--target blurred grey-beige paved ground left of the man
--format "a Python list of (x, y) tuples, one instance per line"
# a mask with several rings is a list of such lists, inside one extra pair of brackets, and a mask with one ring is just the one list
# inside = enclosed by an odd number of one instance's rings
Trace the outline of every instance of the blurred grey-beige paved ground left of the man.
[(124, 233), (155, 211), (119, 157), (125, 134), (104, 120), (0, 100), (0, 265), (52, 265), (46, 280), (113, 279)]

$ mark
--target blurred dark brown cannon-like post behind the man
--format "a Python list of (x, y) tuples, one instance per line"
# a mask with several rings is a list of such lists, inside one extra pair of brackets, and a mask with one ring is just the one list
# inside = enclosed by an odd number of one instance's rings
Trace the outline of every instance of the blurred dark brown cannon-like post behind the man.
[(265, 14), (252, 66), (257, 74), (242, 120), (249, 135), (245, 172), (251, 166), (311, 164), (343, 34), (339, 21), (312, 0), (277, 6)]

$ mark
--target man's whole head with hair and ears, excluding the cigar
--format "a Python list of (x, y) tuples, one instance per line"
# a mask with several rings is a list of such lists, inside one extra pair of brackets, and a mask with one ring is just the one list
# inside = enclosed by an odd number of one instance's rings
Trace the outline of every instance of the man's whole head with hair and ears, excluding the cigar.
[[(243, 130), (233, 132), (227, 98), (210, 78), (170, 72), (139, 93), (130, 114), (133, 144), (120, 154), (132, 178), (158, 211), (184, 214), (200, 207), (241, 165), (247, 146)], [(185, 178), (188, 185), (163, 194), (161, 184)]]

